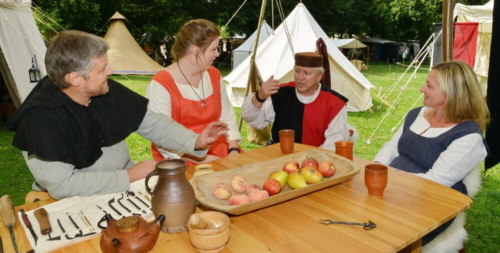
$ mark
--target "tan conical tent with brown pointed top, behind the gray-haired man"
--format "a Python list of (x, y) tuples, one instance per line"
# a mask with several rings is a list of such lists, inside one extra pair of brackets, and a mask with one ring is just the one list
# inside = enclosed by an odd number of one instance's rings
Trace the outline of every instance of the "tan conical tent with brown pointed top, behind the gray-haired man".
[(114, 74), (154, 74), (163, 68), (140, 48), (123, 23), (124, 16), (116, 11), (109, 19), (104, 39), (109, 43), (107, 59)]

